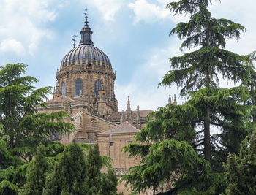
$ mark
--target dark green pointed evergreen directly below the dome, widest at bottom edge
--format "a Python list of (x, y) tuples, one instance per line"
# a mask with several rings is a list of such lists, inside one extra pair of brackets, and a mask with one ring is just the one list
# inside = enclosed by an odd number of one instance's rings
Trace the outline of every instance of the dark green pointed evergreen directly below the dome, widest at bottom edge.
[(53, 174), (48, 176), (43, 194), (88, 194), (88, 173), (85, 154), (73, 142), (56, 161)]

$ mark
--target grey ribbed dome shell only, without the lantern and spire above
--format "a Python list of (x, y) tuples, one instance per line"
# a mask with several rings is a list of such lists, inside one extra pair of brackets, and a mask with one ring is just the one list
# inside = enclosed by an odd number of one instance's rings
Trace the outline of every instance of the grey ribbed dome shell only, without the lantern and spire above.
[[(86, 63), (88, 60), (88, 63)], [(110, 60), (108, 56), (99, 50), (97, 47), (93, 45), (79, 45), (78, 47), (70, 50), (61, 61), (61, 68), (65, 66), (75, 65), (75, 61), (78, 61), (78, 64), (91, 64), (91, 60), (94, 65), (97, 66), (107, 66), (109, 69), (112, 69)], [(97, 64), (96, 64), (97, 61)], [(92, 65), (92, 64), (91, 64)]]

